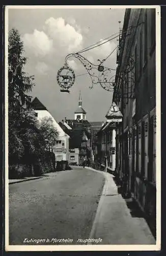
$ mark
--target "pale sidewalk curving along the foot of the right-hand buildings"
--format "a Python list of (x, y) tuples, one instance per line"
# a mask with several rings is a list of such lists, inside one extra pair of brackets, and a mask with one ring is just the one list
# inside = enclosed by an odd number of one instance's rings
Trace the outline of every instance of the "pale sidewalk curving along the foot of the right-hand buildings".
[(155, 245), (156, 241), (146, 220), (141, 215), (132, 217), (125, 199), (118, 193), (118, 188), (113, 179), (114, 176), (90, 167), (86, 168), (103, 173), (105, 176), (105, 185), (90, 238), (102, 238), (100, 244)]

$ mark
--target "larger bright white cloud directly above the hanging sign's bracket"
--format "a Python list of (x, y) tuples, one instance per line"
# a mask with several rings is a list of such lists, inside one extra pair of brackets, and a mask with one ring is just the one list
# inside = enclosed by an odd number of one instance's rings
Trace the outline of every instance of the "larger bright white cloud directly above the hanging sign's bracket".
[[(73, 19), (72, 23), (75, 23)], [(62, 17), (48, 18), (45, 21), (44, 31), (53, 39), (55, 47), (63, 47), (67, 51), (76, 51), (82, 47), (82, 34), (73, 26), (65, 22)]]

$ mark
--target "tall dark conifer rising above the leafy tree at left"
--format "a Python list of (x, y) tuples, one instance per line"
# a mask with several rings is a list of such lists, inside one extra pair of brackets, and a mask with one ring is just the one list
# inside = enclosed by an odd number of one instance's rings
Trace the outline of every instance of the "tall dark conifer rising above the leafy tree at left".
[(30, 107), (31, 97), (27, 94), (32, 91), (34, 76), (27, 75), (23, 69), (27, 58), (22, 56), (23, 42), (17, 29), (9, 32), (8, 45), (8, 97), (9, 111), (17, 112), (23, 106)]

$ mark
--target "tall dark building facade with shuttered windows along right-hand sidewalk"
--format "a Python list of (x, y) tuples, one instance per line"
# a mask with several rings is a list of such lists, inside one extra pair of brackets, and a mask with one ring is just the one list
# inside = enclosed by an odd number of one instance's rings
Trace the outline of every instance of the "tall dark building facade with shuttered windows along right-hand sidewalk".
[(113, 100), (117, 125), (116, 173), (156, 226), (155, 9), (126, 9), (119, 37)]

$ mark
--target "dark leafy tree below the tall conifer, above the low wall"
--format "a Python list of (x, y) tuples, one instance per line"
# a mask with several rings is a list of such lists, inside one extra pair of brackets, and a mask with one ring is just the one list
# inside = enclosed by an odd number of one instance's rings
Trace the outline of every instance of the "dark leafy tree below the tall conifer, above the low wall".
[(39, 156), (43, 151), (44, 137), (40, 133), (35, 112), (30, 109), (20, 110), (16, 122), (9, 119), (9, 159)]

